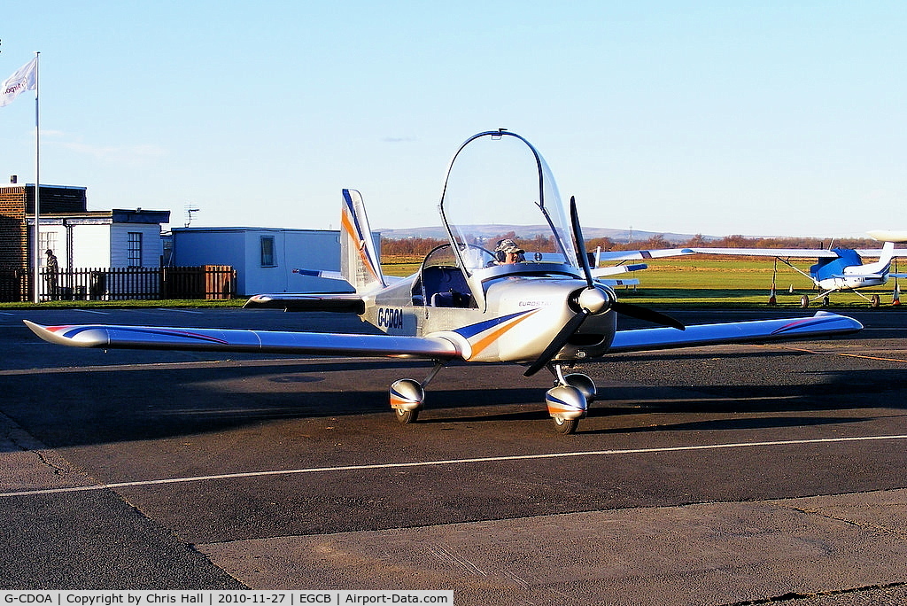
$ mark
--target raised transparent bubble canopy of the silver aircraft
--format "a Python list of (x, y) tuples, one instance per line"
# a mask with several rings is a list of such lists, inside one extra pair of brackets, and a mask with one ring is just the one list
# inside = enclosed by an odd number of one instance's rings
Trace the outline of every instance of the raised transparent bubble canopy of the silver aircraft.
[(480, 132), (453, 154), (441, 218), (460, 266), (483, 269), (502, 239), (524, 250), (525, 262), (578, 268), (571, 223), (551, 169), (520, 135)]

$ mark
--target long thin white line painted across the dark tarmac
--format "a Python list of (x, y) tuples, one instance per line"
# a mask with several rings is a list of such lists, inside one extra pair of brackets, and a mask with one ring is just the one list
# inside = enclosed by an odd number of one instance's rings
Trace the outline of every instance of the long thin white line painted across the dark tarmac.
[(94, 484), (91, 486), (71, 486), (68, 488), (47, 488), (42, 490), (24, 490), (0, 493), (0, 497), (29, 496), (35, 494), (83, 493), (93, 490), (115, 488), (132, 488), (136, 486), (156, 486), (161, 484), (186, 484), (206, 480), (229, 480), (234, 478), (264, 477), (268, 475), (293, 474), (326, 474), (332, 472), (363, 471), (368, 469), (399, 469), (401, 467), (436, 467), (440, 465), (463, 465), (476, 463), (499, 463), (502, 461), (525, 461), (528, 459), (561, 459), (573, 456), (618, 456), (621, 454), (677, 453), (692, 450), (720, 450), (727, 448), (754, 448), (759, 446), (787, 446), (808, 444), (834, 444), (843, 442), (878, 442), (881, 440), (907, 440), (907, 435), (863, 435), (855, 437), (828, 437), (805, 440), (778, 440), (775, 442), (738, 442), (730, 444), (709, 444), (690, 446), (666, 446), (661, 448), (627, 448), (623, 450), (592, 450), (579, 453), (544, 453), (512, 454), (506, 456), (484, 456), (474, 459), (444, 459), (439, 461), (413, 461), (410, 463), (375, 463), (363, 465), (337, 465), (335, 467), (307, 467), (303, 469), (279, 469), (263, 472), (242, 472), (238, 474), (193, 475), (181, 478), (164, 478), (160, 480), (139, 480), (136, 482), (117, 482), (112, 484)]

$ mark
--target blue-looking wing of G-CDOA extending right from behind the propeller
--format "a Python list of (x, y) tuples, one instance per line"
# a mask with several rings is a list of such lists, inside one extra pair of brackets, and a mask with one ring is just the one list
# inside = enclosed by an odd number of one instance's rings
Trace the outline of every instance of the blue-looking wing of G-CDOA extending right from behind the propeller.
[(619, 330), (614, 335), (608, 351), (619, 353), (728, 343), (765, 343), (794, 338), (845, 335), (861, 329), (863, 325), (853, 318), (819, 311), (810, 318), (694, 324), (683, 331), (670, 327)]

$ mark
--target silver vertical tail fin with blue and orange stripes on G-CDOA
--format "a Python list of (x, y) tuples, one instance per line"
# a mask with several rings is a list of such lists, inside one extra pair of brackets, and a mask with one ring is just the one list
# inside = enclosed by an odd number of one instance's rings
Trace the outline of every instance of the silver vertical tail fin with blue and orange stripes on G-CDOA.
[(386, 286), (381, 263), (366, 217), (366, 203), (356, 190), (343, 191), (340, 213), (340, 272), (344, 279), (365, 292)]

